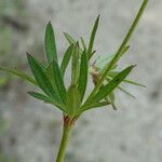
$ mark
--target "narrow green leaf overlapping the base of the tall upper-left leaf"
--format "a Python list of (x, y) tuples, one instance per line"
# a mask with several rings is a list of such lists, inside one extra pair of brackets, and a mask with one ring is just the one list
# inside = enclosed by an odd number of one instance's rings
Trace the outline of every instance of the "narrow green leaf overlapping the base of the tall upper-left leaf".
[(64, 104), (66, 104), (66, 102), (67, 102), (66, 100), (66, 93), (67, 92), (66, 92), (64, 80), (63, 80), (63, 77), (60, 73), (60, 69), (58, 67), (58, 64), (55, 60), (53, 60), (52, 67), (53, 67), (53, 77), (54, 77), (54, 80), (56, 83), (57, 91), (59, 93), (62, 100), (64, 102)]

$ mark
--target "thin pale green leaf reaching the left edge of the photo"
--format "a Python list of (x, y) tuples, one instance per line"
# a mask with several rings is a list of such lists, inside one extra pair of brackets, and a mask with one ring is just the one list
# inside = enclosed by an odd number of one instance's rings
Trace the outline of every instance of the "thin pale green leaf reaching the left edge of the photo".
[(15, 76), (18, 76), (25, 80), (27, 80), (28, 82), (35, 84), (35, 85), (38, 85), (37, 81), (35, 79), (32, 79), (31, 77), (27, 76), (26, 73), (22, 72), (21, 70), (17, 70), (17, 69), (8, 69), (8, 68), (3, 68), (3, 67), (0, 67), (0, 70), (3, 70), (5, 72), (9, 72), (9, 73), (12, 73), (12, 75), (15, 75)]

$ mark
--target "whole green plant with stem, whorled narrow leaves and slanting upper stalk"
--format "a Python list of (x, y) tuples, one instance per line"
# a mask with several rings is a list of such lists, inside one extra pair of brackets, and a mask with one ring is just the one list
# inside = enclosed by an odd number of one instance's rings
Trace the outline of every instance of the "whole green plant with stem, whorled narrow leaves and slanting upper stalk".
[[(54, 108), (58, 108), (63, 112), (63, 138), (56, 162), (64, 162), (67, 145), (75, 123), (85, 111), (105, 106), (112, 106), (112, 108), (117, 110), (116, 90), (134, 97), (121, 86), (121, 83), (145, 86), (138, 82), (126, 79), (135, 65), (131, 65), (121, 70), (117, 70), (117, 67), (120, 58), (130, 49), (130, 39), (137, 27), (147, 3), (148, 0), (144, 0), (123, 42), (113, 55), (102, 56), (95, 63), (91, 62), (96, 53), (94, 41), (99, 24), (98, 15), (87, 44), (82, 37), (79, 38), (79, 40), (75, 40), (69, 33), (64, 32), (69, 46), (65, 51), (60, 64), (58, 63), (54, 29), (50, 22), (46, 25), (44, 39), (46, 63), (41, 63), (27, 53), (28, 64), (33, 77), (24, 73), (22, 70), (0, 67), (0, 70), (18, 76), (30, 82), (33, 86), (39, 87), (40, 92), (30, 91), (28, 94), (37, 99), (53, 105)], [(67, 87), (65, 84), (65, 72), (69, 64), (71, 64), (71, 81)], [(89, 76), (92, 77), (94, 89), (89, 95), (85, 95), (87, 82), (90, 82)]]

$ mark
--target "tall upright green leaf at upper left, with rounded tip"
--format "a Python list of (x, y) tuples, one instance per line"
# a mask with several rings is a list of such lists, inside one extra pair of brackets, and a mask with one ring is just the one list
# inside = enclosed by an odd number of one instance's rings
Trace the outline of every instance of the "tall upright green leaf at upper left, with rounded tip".
[(49, 22), (45, 29), (45, 51), (49, 63), (57, 62), (56, 41), (51, 22)]

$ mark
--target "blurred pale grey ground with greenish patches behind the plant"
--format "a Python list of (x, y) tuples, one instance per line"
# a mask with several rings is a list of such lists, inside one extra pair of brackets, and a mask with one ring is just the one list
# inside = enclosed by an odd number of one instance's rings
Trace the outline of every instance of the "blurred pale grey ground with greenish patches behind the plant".
[[(86, 40), (102, 15), (97, 55), (117, 51), (143, 0), (0, 0), (0, 65), (30, 73), (26, 52), (41, 60), (44, 29), (52, 22), (59, 58), (68, 43), (63, 31)], [(78, 121), (67, 162), (162, 161), (162, 1), (150, 0), (131, 50), (120, 65), (137, 64), (127, 86), (136, 99), (118, 93), (118, 111), (89, 111)], [(62, 113), (27, 95), (33, 87), (0, 71), (0, 162), (52, 162), (59, 146)]]

